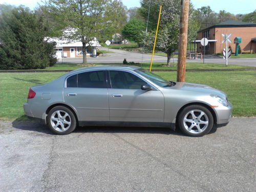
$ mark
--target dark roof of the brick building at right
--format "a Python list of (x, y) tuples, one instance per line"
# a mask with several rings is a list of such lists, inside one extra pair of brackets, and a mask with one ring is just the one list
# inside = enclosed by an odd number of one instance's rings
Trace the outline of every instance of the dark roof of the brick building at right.
[(226, 22), (222, 22), (222, 23), (207, 27), (198, 32), (202, 32), (211, 28), (229, 28), (229, 27), (256, 27), (256, 24), (247, 23), (247, 22), (237, 22), (236, 20), (227, 20)]

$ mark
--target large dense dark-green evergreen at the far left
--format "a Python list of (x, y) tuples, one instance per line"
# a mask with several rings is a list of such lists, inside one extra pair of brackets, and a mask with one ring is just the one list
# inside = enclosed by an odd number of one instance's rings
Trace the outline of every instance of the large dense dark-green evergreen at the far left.
[(43, 17), (25, 7), (0, 5), (0, 69), (44, 69), (54, 65), (55, 44), (44, 40)]

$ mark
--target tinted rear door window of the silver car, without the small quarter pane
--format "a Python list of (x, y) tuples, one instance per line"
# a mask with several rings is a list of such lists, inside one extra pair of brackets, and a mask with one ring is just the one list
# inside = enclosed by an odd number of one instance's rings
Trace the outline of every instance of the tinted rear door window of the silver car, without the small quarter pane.
[(91, 71), (79, 73), (78, 88), (106, 88), (106, 72)]

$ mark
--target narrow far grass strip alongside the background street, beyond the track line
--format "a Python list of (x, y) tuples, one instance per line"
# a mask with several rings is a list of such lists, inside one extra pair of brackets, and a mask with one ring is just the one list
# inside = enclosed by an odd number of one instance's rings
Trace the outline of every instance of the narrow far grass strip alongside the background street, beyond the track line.
[[(123, 63), (98, 63), (98, 64), (77, 64), (77, 63), (57, 63), (53, 67), (46, 68), (46, 70), (75, 70), (82, 67), (91, 67), (96, 65), (123, 65)], [(142, 67), (144, 69), (150, 68), (150, 63), (139, 63), (137, 66)], [(166, 62), (155, 62), (153, 63), (152, 70), (154, 69), (172, 69), (177, 70), (177, 62), (171, 62), (171, 67), (166, 65)], [(256, 69), (255, 67), (248, 67), (248, 66), (235, 66), (235, 65), (228, 65), (227, 67), (222, 64), (216, 63), (205, 63), (202, 62), (188, 62), (186, 63), (186, 69)]]

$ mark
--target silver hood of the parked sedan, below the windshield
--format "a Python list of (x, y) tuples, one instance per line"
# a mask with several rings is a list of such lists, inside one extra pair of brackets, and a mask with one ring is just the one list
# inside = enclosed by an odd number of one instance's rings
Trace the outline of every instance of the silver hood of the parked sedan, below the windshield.
[(206, 86), (205, 84), (187, 83), (187, 82), (176, 82), (176, 85), (168, 89), (184, 90), (191, 92), (203, 92), (206, 94), (216, 94), (222, 98), (226, 98), (226, 94), (220, 90)]

